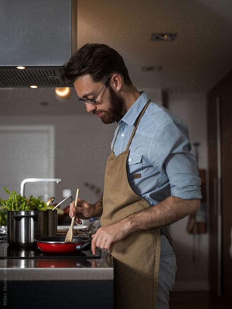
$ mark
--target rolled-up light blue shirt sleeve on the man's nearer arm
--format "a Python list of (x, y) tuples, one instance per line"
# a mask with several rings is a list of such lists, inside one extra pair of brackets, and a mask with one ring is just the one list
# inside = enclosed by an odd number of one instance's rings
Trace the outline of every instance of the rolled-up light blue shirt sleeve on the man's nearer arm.
[(170, 119), (158, 128), (148, 158), (170, 183), (171, 195), (182, 199), (202, 198), (196, 157), (191, 152), (185, 124)]

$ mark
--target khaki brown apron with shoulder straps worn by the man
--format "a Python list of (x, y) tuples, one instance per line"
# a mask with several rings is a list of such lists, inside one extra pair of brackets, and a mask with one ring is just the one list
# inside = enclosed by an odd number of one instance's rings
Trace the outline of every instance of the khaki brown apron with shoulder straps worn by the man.
[[(126, 170), (129, 146), (150, 101), (146, 103), (137, 118), (126, 150), (118, 156), (115, 156), (112, 150), (107, 160), (102, 227), (151, 207), (145, 199), (132, 190)], [(165, 231), (168, 233), (167, 230)], [(160, 228), (132, 232), (123, 240), (113, 244), (110, 253), (114, 258), (115, 267), (116, 309), (157, 308), (160, 248)]]

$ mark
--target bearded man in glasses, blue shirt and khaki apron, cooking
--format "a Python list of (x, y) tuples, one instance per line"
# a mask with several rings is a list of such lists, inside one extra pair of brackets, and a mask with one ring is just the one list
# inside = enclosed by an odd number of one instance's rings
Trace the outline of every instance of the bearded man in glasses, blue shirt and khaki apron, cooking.
[(122, 57), (86, 44), (64, 65), (79, 101), (118, 127), (107, 160), (103, 200), (78, 199), (70, 216), (101, 216), (92, 251), (114, 258), (116, 308), (167, 309), (176, 260), (167, 226), (200, 206), (200, 178), (186, 125), (132, 84)]

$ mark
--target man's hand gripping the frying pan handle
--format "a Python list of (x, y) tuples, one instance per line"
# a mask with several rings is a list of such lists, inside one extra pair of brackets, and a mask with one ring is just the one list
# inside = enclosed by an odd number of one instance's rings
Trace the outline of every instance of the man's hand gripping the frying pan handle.
[(129, 234), (129, 230), (121, 222), (106, 227), (99, 227), (92, 235), (92, 252), (96, 253), (96, 247), (110, 250), (113, 243), (122, 240)]

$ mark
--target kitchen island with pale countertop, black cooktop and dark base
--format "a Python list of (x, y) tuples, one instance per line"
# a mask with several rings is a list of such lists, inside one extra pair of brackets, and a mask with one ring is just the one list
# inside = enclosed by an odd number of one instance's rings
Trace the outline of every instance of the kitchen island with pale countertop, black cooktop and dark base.
[[(7, 308), (114, 308), (113, 259), (105, 250), (76, 256), (14, 250), (0, 241), (0, 302)], [(1, 307), (1, 306), (0, 306)]]

